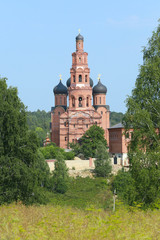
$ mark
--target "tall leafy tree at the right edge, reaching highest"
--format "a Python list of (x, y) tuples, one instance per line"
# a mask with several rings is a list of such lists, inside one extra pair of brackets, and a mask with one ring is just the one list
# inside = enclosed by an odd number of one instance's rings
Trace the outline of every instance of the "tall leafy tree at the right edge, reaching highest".
[(143, 49), (143, 65), (123, 124), (133, 128), (129, 145), (130, 171), (137, 200), (150, 204), (160, 195), (160, 25)]

